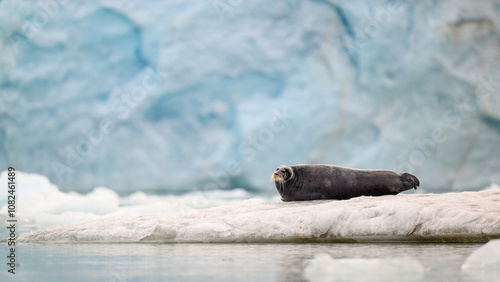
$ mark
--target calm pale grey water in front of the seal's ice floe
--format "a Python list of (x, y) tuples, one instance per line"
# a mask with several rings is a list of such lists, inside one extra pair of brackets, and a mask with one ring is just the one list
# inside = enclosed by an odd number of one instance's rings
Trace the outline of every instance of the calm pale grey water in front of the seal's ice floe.
[[(343, 281), (377, 281), (363, 264), (411, 258), (420, 272), (393, 281), (493, 281), (462, 263), (481, 244), (21, 244), (1, 281), (307, 281), (318, 254), (359, 261)], [(7, 245), (0, 248), (6, 260)], [(359, 260), (361, 259), (361, 260)], [(423, 268), (422, 268), (423, 266)], [(406, 266), (408, 267), (408, 266)], [(413, 267), (413, 266), (411, 266)], [(349, 273), (349, 271), (351, 271)], [(377, 273), (384, 271), (379, 269)], [(327, 278), (327, 277), (323, 277)], [(318, 280), (321, 281), (321, 280)], [(330, 280), (323, 280), (330, 281)], [(387, 281), (387, 278), (384, 279)], [(389, 280), (390, 281), (390, 280)]]

